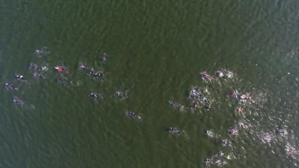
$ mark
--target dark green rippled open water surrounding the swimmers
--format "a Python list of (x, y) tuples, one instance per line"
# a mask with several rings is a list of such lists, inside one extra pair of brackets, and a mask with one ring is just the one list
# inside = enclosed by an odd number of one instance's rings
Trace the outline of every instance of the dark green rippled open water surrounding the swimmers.
[[(252, 108), (263, 113), (259, 129), (284, 122), (296, 144), (296, 0), (1, 0), (0, 7), (1, 81), (20, 86), (1, 89), (1, 168), (201, 168), (219, 150), (238, 158), (227, 168), (298, 162), (281, 143), (240, 136), (229, 148), (205, 135), (214, 129), (227, 136), (237, 117), (225, 94), (238, 87), (267, 93), (263, 108)], [(34, 56), (43, 46), (51, 54)], [(98, 61), (103, 52), (106, 64)], [(79, 71), (80, 61), (103, 70), (106, 80)], [(47, 78), (35, 80), (30, 62), (48, 64)], [(56, 82), (52, 67), (60, 62), (78, 86)], [(218, 95), (214, 109), (180, 114), (169, 107), (169, 100), (188, 106), (191, 86), (207, 85), (199, 73), (220, 67), (234, 71), (239, 82), (208, 84)], [(30, 84), (15, 82), (15, 73)], [(129, 98), (117, 99), (119, 89), (128, 89)], [(90, 91), (104, 99), (90, 101)], [(12, 96), (24, 106), (14, 106)], [(127, 118), (127, 110), (143, 114), (143, 121)], [(169, 126), (188, 137), (169, 135)]]

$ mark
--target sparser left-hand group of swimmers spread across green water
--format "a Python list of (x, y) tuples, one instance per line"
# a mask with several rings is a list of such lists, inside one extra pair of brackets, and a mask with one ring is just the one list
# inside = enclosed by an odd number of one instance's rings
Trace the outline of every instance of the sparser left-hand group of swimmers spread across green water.
[[(50, 54), (49, 50), (47, 49), (47, 47), (42, 47), (40, 49), (36, 49), (34, 54), (37, 57), (43, 57), (43, 56), (47, 56)], [(103, 53), (100, 57), (99, 57), (99, 61), (101, 61), (102, 63), (105, 63), (107, 61), (107, 54)], [(35, 63), (30, 63), (28, 66), (28, 69), (33, 71), (33, 77), (36, 79), (43, 79), (45, 78), (44, 75), (44, 71), (48, 70), (47, 66), (39, 66)], [(80, 63), (79, 64), (79, 69), (84, 71), (87, 75), (89, 75), (90, 77), (94, 78), (94, 79), (104, 79), (105, 75), (103, 71), (97, 71), (94, 70), (92, 67), (88, 67), (87, 65)], [(59, 72), (60, 77), (57, 79), (58, 83), (69, 83), (69, 84), (73, 84), (72, 81), (69, 81), (65, 75), (68, 74), (68, 69), (66, 66), (64, 66), (63, 64), (59, 64), (57, 66), (54, 67), (54, 70), (56, 70), (57, 72)], [(27, 79), (21, 75), (21, 74), (15, 74), (15, 79), (16, 81), (22, 82), (22, 83), (27, 83)], [(18, 90), (18, 87), (15, 87), (13, 83), (11, 82), (5, 82), (3, 84), (4, 88), (7, 90)], [(127, 98), (127, 90), (126, 91), (116, 91), (115, 94), (116, 96), (120, 97), (120, 99), (125, 99)], [(98, 92), (90, 92), (88, 94), (88, 96), (93, 99), (93, 100), (97, 100), (100, 98), (103, 98), (103, 96), (98, 93)], [(13, 103), (16, 105), (23, 105), (24, 102), (18, 98), (17, 96), (13, 96)], [(131, 118), (139, 118), (141, 119), (141, 117), (139, 117), (138, 114), (135, 114), (134, 112), (126, 112), (126, 115), (131, 117)]]

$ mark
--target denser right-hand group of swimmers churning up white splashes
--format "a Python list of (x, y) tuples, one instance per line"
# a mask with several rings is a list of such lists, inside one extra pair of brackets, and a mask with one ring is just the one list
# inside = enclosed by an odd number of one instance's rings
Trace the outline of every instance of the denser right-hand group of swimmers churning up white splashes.
[[(225, 69), (217, 70), (215, 71), (215, 77), (212, 77), (209, 75), (207, 72), (201, 72), (201, 78), (204, 82), (209, 83), (213, 82), (219, 79), (227, 79), (230, 80), (234, 78), (234, 73)], [(228, 93), (227, 95), (229, 98), (239, 102), (239, 105), (241, 104), (251, 104), (255, 103), (255, 100), (251, 97), (249, 93), (239, 93), (238, 90), (232, 90), (231, 92)], [(189, 99), (191, 100), (190, 106), (185, 107), (180, 105), (178, 102), (174, 101), (169, 101), (169, 104), (171, 107), (173, 107), (175, 110), (178, 110), (179, 112), (186, 112), (187, 109), (189, 110), (204, 110), (204, 111), (210, 111), (212, 109), (212, 102), (209, 100), (209, 90), (205, 87), (199, 87), (199, 86), (194, 86), (191, 88), (189, 92)], [(243, 115), (244, 110), (241, 107), (237, 107), (235, 110), (236, 114), (238, 115)], [(236, 128), (237, 127), (237, 128)], [(230, 137), (235, 137), (239, 135), (239, 132), (241, 130), (247, 130), (249, 131), (251, 129), (251, 125), (246, 122), (237, 122), (236, 127), (231, 127), (228, 129), (227, 134)], [(170, 127), (168, 131), (174, 135), (181, 135), (183, 131), (179, 130), (177, 127)], [(228, 139), (221, 139), (220, 136), (216, 135), (212, 130), (207, 130), (206, 134), (210, 138), (216, 138), (217, 141), (222, 144), (223, 146), (231, 146), (232, 143)], [(276, 130), (275, 134), (277, 136), (285, 136), (287, 134), (286, 130)], [(264, 142), (269, 142), (272, 140), (273, 135), (270, 133), (265, 133), (260, 136), (261, 140)], [(296, 151), (294, 148), (291, 146), (288, 147), (287, 152), (291, 153)], [(204, 163), (206, 165), (215, 165), (215, 166), (223, 166), (227, 164), (226, 160), (232, 159), (233, 156), (231, 155), (225, 155), (222, 151), (216, 153), (214, 156), (211, 158), (206, 158), (204, 160)]]

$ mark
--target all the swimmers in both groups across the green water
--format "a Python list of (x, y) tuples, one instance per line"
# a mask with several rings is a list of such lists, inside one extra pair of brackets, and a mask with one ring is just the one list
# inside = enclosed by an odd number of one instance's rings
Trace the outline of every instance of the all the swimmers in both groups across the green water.
[[(45, 47), (35, 50), (35, 55), (38, 57), (46, 56), (49, 53), (50, 52)], [(99, 56), (98, 60), (101, 61), (102, 63), (106, 63), (108, 60), (107, 54), (105, 54), (105, 53), (102, 54), (101, 56)], [(47, 66), (39, 66), (35, 63), (30, 63), (30, 64), (28, 64), (27, 67), (32, 72), (32, 75), (34, 78), (44, 79), (46, 77), (44, 72), (48, 70)], [(94, 68), (89, 67), (87, 64), (80, 62), (78, 65), (78, 68), (79, 68), (79, 70), (83, 71), (85, 74), (87, 74), (88, 76), (90, 76), (91, 78), (93, 78), (95, 80), (97, 80), (97, 79), (104, 80), (105, 79), (105, 73), (103, 71), (95, 70)], [(60, 74), (59, 78), (57, 79), (58, 83), (73, 84), (71, 81), (69, 81), (65, 77), (69, 73), (68, 68), (65, 65), (63, 65), (63, 64), (56, 65), (56, 66), (54, 66), (53, 70), (57, 71)], [(200, 76), (204, 82), (210, 83), (215, 79), (224, 78), (224, 79), (230, 80), (230, 79), (233, 79), (235, 75), (233, 72), (231, 72), (229, 70), (220, 69), (220, 70), (215, 71), (214, 77), (212, 77), (206, 71), (201, 72)], [(21, 74), (15, 74), (14, 78), (18, 82), (28, 83), (27, 79)], [(19, 89), (18, 87), (15, 87), (12, 82), (5, 82), (3, 84), (3, 86), (7, 90), (18, 90)], [(128, 97), (128, 90), (124, 90), (124, 91), (118, 90), (115, 92), (115, 95), (117, 97), (119, 97), (121, 100), (125, 99)], [(94, 101), (103, 98), (103, 95), (101, 93), (95, 92), (95, 91), (88, 93), (87, 96), (90, 97), (90, 99), (94, 100)], [(239, 93), (238, 90), (232, 90), (231, 92), (229, 92), (227, 94), (227, 96), (232, 98), (235, 101), (238, 101), (240, 104), (254, 103), (254, 100), (250, 94)], [(203, 110), (205, 112), (209, 112), (213, 108), (212, 101), (209, 99), (209, 90), (207, 88), (199, 87), (199, 86), (192, 87), (189, 92), (188, 98), (191, 100), (188, 107), (185, 107), (185, 106), (179, 104), (178, 102), (175, 102), (172, 100), (168, 101), (168, 103), (169, 103), (170, 107), (172, 107), (174, 110), (179, 111), (179, 112), (186, 112), (188, 110), (190, 110), (190, 111)], [(13, 103), (16, 105), (24, 104), (24, 102), (17, 96), (13, 96)], [(241, 107), (237, 107), (236, 113), (243, 114), (244, 110)], [(135, 119), (135, 120), (139, 120), (139, 121), (142, 120), (142, 114), (139, 114), (137, 112), (127, 111), (127, 112), (125, 112), (125, 115), (131, 119)], [(235, 137), (235, 136), (239, 135), (240, 130), (250, 130), (252, 126), (246, 122), (240, 121), (237, 123), (236, 127), (234, 127), (234, 128), (232, 127), (230, 129), (228, 129), (227, 134), (231, 137)], [(176, 127), (176, 126), (170, 126), (165, 131), (167, 131), (173, 135), (176, 135), (176, 136), (180, 136), (180, 135), (182, 135), (182, 133), (184, 133), (183, 130), (180, 130), (179, 127)], [(223, 146), (231, 146), (231, 141), (229, 141), (227, 139), (220, 139), (220, 136), (217, 136), (212, 130), (207, 130), (206, 134), (208, 135), (208, 137), (217, 138), (218, 141)], [(284, 129), (277, 129), (275, 131), (275, 134), (279, 135), (279, 136), (285, 136), (287, 134), (287, 131)], [(265, 142), (270, 142), (272, 140), (272, 137), (273, 137), (273, 135), (269, 134), (269, 133), (265, 133), (265, 134), (261, 135), (261, 139)], [(293, 148), (292, 148), (292, 146), (288, 147), (287, 152), (294, 153), (295, 151), (296, 150), (294, 147)], [(220, 151), (220, 152), (216, 153), (213, 157), (206, 158), (204, 160), (204, 163), (207, 165), (219, 165), (220, 162), (221, 163), (225, 162), (223, 160), (227, 157), (228, 156), (226, 156), (224, 153), (222, 153)]]

